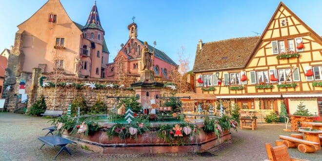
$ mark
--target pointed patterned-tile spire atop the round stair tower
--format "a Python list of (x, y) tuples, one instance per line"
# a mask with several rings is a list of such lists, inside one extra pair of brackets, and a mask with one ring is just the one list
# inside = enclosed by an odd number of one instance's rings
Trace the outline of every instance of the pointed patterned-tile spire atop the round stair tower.
[(87, 22), (83, 30), (85, 29), (98, 29), (104, 32), (103, 28), (101, 27), (101, 20), (100, 20), (99, 12), (97, 10), (96, 0), (94, 1), (94, 5), (92, 7), (92, 10), (89, 14), (89, 17), (87, 19)]

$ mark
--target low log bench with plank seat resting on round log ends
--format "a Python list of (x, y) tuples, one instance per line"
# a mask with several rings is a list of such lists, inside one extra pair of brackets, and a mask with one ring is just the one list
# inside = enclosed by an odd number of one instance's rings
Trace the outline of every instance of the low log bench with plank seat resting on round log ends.
[(288, 148), (297, 147), (302, 153), (314, 153), (321, 149), (319, 142), (305, 141), (284, 135), (280, 135), (279, 138), (283, 140), (283, 144), (285, 144)]

